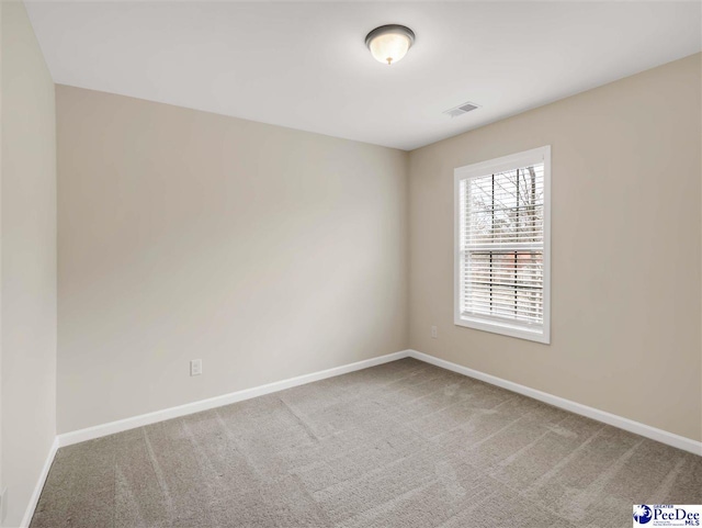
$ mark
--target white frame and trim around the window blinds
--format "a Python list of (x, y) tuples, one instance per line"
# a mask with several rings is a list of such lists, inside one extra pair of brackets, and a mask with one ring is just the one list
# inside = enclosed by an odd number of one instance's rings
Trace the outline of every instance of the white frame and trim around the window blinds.
[[(462, 240), (461, 240), (461, 181), (485, 177), (496, 172), (502, 172), (510, 169), (528, 167), (534, 164), (544, 164), (544, 248), (543, 248), (543, 326), (540, 328), (530, 328), (528, 325), (519, 323), (511, 324), (509, 322), (495, 321), (477, 315), (461, 314), (461, 261), (462, 261)], [(503, 336), (518, 337), (543, 344), (551, 344), (551, 146), (546, 145), (532, 150), (503, 156), (501, 158), (490, 159), (479, 164), (467, 165), (454, 169), (454, 324), (456, 326), (465, 326), (484, 332), (501, 334)]]

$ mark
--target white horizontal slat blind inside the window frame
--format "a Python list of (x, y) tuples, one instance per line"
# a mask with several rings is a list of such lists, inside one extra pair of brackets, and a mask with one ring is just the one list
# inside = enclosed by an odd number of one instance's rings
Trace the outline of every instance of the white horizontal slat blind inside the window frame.
[(544, 164), (461, 181), (461, 314), (543, 325)]

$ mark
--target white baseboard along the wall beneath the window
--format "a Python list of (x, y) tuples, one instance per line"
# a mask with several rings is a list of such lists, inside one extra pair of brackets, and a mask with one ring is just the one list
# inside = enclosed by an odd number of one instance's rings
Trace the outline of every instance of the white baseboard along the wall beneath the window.
[(620, 429), (624, 429), (630, 432), (634, 432), (636, 435), (650, 438), (652, 440), (656, 440), (661, 443), (667, 443), (668, 446), (672, 446), (675, 448), (702, 456), (702, 442), (692, 440), (691, 438), (686, 438), (680, 435), (675, 435), (672, 432), (668, 432), (663, 429), (657, 429), (655, 427), (647, 426), (639, 422), (634, 422), (632, 419), (624, 418), (622, 416), (618, 416), (615, 414), (611, 414), (605, 411), (600, 411), (595, 407), (588, 407), (587, 405), (582, 405), (580, 403), (576, 403), (570, 400), (566, 400), (564, 397), (554, 396), (553, 394), (541, 392), (535, 389), (530, 389), (528, 386), (520, 385), (519, 383), (513, 383), (511, 381), (507, 381), (501, 378), (497, 378), (495, 375), (486, 374), (477, 370), (468, 369), (467, 367), (452, 363), (451, 361), (439, 359), (439, 358), (435, 358), (434, 356), (429, 356), (428, 353), (418, 352), (417, 350), (409, 350), (409, 357), (419, 359), (420, 361), (424, 361), (427, 363), (434, 364), (437, 367), (441, 367), (442, 369), (457, 372), (458, 374), (464, 374), (469, 378), (475, 378), (476, 380), (480, 380), (486, 383), (490, 383), (492, 385), (501, 386), (502, 389), (507, 389), (508, 391), (512, 391), (518, 394), (523, 394), (524, 396), (533, 397), (534, 400), (539, 400), (540, 402), (547, 403), (548, 405), (553, 405), (554, 407), (564, 408), (566, 411), (570, 411), (571, 413), (587, 416), (588, 418), (592, 418), (598, 422), (603, 422), (604, 424), (619, 427)]

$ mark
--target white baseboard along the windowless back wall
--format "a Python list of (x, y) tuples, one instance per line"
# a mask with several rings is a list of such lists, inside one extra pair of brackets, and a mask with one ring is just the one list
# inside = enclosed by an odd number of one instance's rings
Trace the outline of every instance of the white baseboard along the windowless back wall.
[(242, 391), (224, 394), (222, 396), (215, 396), (207, 400), (201, 400), (199, 402), (179, 405), (178, 407), (165, 408), (162, 411), (141, 414), (117, 422), (110, 422), (107, 424), (101, 424), (93, 427), (88, 427), (86, 429), (65, 432), (57, 437), (58, 446), (70, 446), (72, 443), (92, 440), (94, 438), (100, 438), (107, 435), (114, 435), (115, 432), (122, 432), (124, 430), (134, 429), (136, 427), (156, 424), (157, 422), (178, 418), (180, 416), (200, 413), (201, 411), (208, 411), (215, 407), (222, 407), (223, 405), (229, 405), (231, 403), (241, 402), (244, 400), (250, 400), (252, 397), (262, 396), (272, 392), (284, 391), (285, 389), (291, 389), (293, 386), (304, 385), (306, 383), (325, 380), (327, 378), (333, 378), (335, 375), (347, 374), (349, 372), (367, 369), (369, 367), (375, 367), (377, 364), (387, 363), (389, 361), (396, 361), (398, 359), (407, 358), (408, 356), (409, 350), (401, 350), (399, 352), (388, 353), (377, 358), (371, 358), (341, 367), (335, 367), (333, 369), (327, 369), (320, 372), (314, 372), (312, 374), (298, 375), (296, 378), (290, 378), (287, 380), (276, 381), (273, 383), (268, 383), (265, 385), (259, 385), (252, 389), (245, 389)]

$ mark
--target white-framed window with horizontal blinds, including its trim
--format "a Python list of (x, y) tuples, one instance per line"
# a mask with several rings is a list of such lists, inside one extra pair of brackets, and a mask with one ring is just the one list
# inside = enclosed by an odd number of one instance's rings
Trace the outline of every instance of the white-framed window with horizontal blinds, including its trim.
[(550, 342), (551, 147), (454, 175), (455, 324)]

